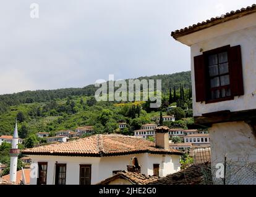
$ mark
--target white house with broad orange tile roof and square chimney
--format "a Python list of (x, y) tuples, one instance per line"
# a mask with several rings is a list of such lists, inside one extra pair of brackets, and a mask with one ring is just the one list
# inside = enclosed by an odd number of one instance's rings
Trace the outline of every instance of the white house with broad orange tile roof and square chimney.
[[(90, 185), (111, 177), (127, 166), (160, 177), (180, 170), (181, 152), (169, 148), (168, 134), (158, 133), (156, 143), (138, 137), (97, 134), (66, 143), (23, 150), (38, 164), (38, 179), (31, 185)], [(136, 160), (134, 166), (132, 161)]]

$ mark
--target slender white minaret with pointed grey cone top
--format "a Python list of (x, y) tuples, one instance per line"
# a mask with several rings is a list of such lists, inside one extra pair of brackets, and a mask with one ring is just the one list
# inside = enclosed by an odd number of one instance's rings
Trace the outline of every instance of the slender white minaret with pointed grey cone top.
[(19, 143), (19, 136), (18, 136), (17, 121), (16, 121), (15, 129), (14, 129), (14, 136), (12, 138), (12, 148), (10, 150), (10, 156), (11, 156), (10, 182), (11, 183), (16, 182), (18, 156), (20, 153), (20, 150), (18, 148), (18, 143)]

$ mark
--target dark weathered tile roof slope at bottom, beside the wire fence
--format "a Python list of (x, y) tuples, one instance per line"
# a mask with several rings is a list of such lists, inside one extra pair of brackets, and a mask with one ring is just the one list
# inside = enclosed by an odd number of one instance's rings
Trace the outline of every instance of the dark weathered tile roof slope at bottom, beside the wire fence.
[(211, 184), (209, 163), (193, 164), (184, 170), (167, 175), (150, 185), (208, 185)]

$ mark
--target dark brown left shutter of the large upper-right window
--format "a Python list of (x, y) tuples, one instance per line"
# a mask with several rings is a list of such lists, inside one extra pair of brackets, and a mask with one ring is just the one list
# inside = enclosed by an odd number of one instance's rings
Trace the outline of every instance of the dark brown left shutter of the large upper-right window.
[(194, 57), (196, 102), (206, 100), (205, 60), (203, 55)]

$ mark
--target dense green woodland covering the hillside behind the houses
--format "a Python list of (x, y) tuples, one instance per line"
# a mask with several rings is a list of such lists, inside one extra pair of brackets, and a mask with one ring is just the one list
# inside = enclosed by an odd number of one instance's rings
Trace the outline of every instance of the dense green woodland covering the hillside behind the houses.
[[(175, 115), (175, 122), (160, 123), (168, 127), (195, 128), (192, 114), (192, 90), (190, 72), (164, 74), (139, 79), (162, 79), (162, 105), (150, 108), (150, 102), (96, 102), (93, 85), (83, 88), (25, 91), (0, 95), (0, 135), (12, 135), (15, 119), (18, 121), (22, 147), (30, 148), (37, 143), (36, 132), (54, 132), (92, 125), (96, 133), (133, 135), (142, 124), (153, 123), (152, 118)], [(177, 108), (170, 108), (177, 105)], [(128, 127), (120, 131), (118, 123)], [(174, 139), (179, 140), (179, 139)], [(9, 145), (0, 146), (0, 163), (7, 163)], [(21, 156), (21, 155), (20, 155)]]

